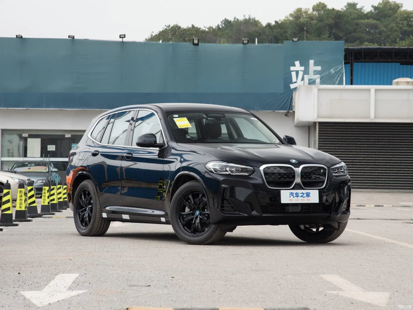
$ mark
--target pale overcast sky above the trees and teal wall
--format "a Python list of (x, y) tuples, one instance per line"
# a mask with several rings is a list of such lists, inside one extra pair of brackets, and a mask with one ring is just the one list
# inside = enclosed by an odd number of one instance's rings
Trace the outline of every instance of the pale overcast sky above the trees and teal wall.
[[(0, 0), (0, 37), (144, 41), (167, 24), (210, 26), (243, 15), (263, 24), (282, 19), (318, 0)], [(347, 0), (324, 0), (342, 8)], [(359, 0), (370, 10), (379, 0)], [(413, 10), (413, 0), (398, 0)], [(0, 47), (1, 48), (1, 47)]]

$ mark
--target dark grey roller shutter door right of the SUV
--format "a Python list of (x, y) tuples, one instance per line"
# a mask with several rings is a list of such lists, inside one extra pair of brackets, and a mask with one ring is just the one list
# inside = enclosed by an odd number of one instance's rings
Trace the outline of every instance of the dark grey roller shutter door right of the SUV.
[(413, 190), (413, 124), (318, 123), (318, 149), (346, 163), (353, 188)]

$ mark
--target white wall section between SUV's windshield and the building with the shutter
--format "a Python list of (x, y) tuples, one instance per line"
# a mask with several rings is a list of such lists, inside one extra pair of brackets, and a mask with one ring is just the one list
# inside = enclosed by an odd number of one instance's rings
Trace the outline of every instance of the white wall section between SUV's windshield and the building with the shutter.
[(309, 127), (294, 126), (294, 112), (285, 116), (285, 112), (254, 111), (264, 122), (281, 136), (287, 135), (295, 138), (297, 145), (309, 146)]

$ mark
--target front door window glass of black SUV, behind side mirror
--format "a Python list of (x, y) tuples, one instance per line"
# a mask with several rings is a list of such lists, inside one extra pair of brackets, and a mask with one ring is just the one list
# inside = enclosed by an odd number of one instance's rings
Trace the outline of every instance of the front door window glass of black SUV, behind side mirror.
[(161, 124), (156, 114), (152, 111), (139, 110), (133, 128), (132, 145), (136, 145), (139, 136), (149, 133), (155, 134), (157, 143), (164, 142)]

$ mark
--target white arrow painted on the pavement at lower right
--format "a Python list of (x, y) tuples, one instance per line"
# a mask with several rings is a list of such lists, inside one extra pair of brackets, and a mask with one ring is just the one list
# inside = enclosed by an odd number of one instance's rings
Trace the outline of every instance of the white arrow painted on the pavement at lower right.
[(360, 287), (352, 284), (350, 281), (343, 279), (334, 274), (320, 274), (320, 277), (338, 286), (343, 291), (328, 291), (327, 293), (337, 294), (348, 298), (364, 301), (365, 303), (372, 303), (380, 307), (385, 307), (390, 293), (384, 292), (366, 292)]

